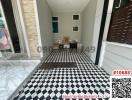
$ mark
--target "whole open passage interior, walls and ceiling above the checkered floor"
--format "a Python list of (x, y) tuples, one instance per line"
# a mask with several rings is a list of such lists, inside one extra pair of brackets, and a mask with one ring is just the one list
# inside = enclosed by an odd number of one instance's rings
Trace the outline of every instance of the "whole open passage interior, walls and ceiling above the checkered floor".
[(36, 2), (42, 46), (81, 49), (95, 62), (104, 0)]

